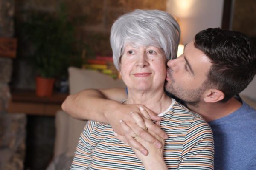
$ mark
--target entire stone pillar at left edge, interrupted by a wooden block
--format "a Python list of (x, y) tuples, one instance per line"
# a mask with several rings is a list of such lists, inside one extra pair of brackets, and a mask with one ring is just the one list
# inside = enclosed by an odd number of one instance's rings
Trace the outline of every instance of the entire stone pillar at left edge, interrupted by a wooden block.
[[(0, 37), (14, 36), (14, 0), (0, 0)], [(23, 170), (26, 116), (6, 113), (12, 59), (0, 56), (0, 170)]]

